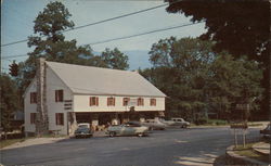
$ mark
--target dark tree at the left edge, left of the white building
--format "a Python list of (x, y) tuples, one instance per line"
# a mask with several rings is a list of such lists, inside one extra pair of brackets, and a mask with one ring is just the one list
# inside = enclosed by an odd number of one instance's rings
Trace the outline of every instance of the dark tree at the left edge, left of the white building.
[(18, 111), (18, 94), (15, 81), (12, 80), (8, 75), (0, 76), (0, 87), (1, 87), (1, 127), (3, 131), (10, 131), (11, 128), (11, 117), (15, 111)]

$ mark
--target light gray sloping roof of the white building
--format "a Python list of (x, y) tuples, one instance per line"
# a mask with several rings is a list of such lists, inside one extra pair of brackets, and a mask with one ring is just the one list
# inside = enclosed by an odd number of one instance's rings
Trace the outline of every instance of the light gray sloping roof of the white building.
[(166, 97), (137, 72), (48, 62), (74, 93)]

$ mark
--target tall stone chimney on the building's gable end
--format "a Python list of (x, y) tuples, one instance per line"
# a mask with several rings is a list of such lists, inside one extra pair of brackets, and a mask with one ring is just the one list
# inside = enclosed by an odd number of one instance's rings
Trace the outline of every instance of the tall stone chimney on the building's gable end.
[(46, 59), (40, 58), (37, 61), (37, 120), (36, 135), (38, 137), (48, 133), (48, 107), (47, 107), (47, 77)]

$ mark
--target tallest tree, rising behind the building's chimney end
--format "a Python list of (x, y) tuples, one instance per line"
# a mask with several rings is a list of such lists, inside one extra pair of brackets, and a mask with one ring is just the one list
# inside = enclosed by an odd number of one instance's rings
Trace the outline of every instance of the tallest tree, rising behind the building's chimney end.
[(80, 65), (100, 65), (100, 58), (92, 54), (89, 46), (77, 47), (76, 40), (67, 41), (63, 30), (74, 27), (69, 21), (72, 14), (61, 2), (50, 2), (42, 12), (39, 12), (34, 21), (34, 33), (36, 36), (28, 37), (28, 47), (34, 47), (29, 58), (18, 64), (17, 84), (23, 94), (30, 84), (36, 72), (38, 58), (48, 61), (65, 62)]

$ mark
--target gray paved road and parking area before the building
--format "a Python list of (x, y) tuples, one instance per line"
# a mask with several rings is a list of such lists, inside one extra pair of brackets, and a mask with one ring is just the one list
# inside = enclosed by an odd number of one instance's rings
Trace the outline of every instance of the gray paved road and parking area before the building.
[[(248, 137), (258, 139), (258, 129)], [(4, 165), (170, 166), (212, 165), (232, 144), (229, 128), (168, 129), (150, 137), (67, 139), (1, 151)]]

